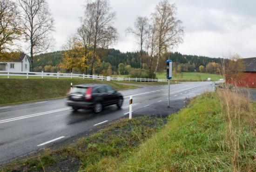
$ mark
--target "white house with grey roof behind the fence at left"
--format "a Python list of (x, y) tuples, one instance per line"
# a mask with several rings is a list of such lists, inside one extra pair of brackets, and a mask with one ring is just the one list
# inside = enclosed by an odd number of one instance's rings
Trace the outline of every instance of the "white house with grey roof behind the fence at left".
[(12, 61), (1, 62), (0, 70), (9, 72), (20, 72), (20, 71), (30, 71), (30, 59), (27, 54), (20, 53), (20, 58), (13, 59)]

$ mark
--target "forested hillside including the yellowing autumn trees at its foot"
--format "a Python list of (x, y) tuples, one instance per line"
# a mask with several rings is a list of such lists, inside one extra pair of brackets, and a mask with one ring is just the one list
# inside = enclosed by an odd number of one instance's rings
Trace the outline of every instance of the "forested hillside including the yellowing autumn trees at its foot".
[[(107, 50), (106, 50), (107, 51)], [(47, 72), (68, 72), (68, 70), (61, 68), (61, 63), (63, 62), (64, 51), (55, 51), (40, 54), (34, 57), (34, 70), (40, 71), (45, 70)], [(148, 54), (143, 53), (142, 63), (144, 68), (147, 68), (148, 64)], [(205, 56), (195, 56), (195, 55), (183, 55), (179, 52), (166, 53), (163, 59), (160, 61), (158, 71), (162, 72), (165, 70), (165, 60), (171, 59), (174, 62), (174, 70), (177, 72), (190, 72), (190, 71), (200, 71), (217, 73), (216, 64), (221, 63), (221, 58), (210, 58)], [(103, 63), (104, 62), (104, 63)], [(108, 75), (119, 73), (119, 64), (124, 64), (124, 66), (129, 65), (127, 68), (140, 68), (140, 53), (139, 52), (121, 52), (115, 49), (109, 49), (107, 53), (101, 57), (101, 65), (99, 70), (95, 70), (96, 74), (100, 74), (102, 70), (108, 70)], [(202, 71), (200, 70), (200, 66)], [(81, 71), (74, 69), (74, 72), (79, 73)], [(128, 73), (128, 72), (127, 72)]]

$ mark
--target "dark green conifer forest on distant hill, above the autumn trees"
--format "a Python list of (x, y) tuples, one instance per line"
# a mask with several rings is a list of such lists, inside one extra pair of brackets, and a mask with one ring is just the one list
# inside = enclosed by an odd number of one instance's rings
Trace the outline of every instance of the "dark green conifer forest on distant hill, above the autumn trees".
[[(146, 52), (145, 55), (147, 56)], [(117, 67), (118, 64), (131, 65), (133, 68), (140, 68), (139, 52), (121, 52), (115, 49), (109, 49), (107, 56), (102, 57), (101, 61), (110, 63)], [(195, 69), (200, 65), (206, 66), (210, 62), (220, 63), (221, 58), (210, 58), (206, 56), (184, 55), (179, 52), (165, 54), (162, 60), (171, 59), (177, 64), (194, 64)], [(46, 65), (58, 66), (63, 60), (63, 51), (55, 51), (40, 54), (34, 57), (34, 66), (44, 67)], [(148, 63), (145, 61), (144, 63)]]

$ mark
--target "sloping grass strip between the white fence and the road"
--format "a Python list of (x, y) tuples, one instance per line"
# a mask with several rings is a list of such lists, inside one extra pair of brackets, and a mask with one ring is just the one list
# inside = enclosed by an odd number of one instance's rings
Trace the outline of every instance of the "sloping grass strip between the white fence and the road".
[(82, 83), (104, 83), (117, 90), (138, 88), (134, 85), (98, 81), (92, 79), (1, 79), (0, 78), (0, 106), (21, 102), (39, 101), (66, 96), (73, 85)]

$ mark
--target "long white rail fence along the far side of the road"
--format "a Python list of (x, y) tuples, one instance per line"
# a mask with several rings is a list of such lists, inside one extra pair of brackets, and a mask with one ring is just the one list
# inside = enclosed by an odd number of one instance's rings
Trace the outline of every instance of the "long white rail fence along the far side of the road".
[(0, 76), (26, 76), (29, 77), (69, 77), (69, 78), (82, 78), (82, 79), (97, 79), (106, 81), (136, 81), (136, 82), (167, 82), (166, 79), (150, 79), (150, 78), (128, 78), (128, 77), (111, 77), (111, 76), (97, 76), (97, 75), (85, 75), (85, 74), (73, 74), (73, 73), (50, 73), (50, 72), (13, 72), (0, 70)]

